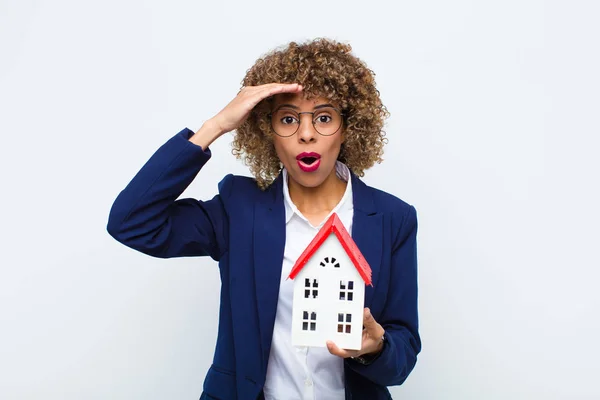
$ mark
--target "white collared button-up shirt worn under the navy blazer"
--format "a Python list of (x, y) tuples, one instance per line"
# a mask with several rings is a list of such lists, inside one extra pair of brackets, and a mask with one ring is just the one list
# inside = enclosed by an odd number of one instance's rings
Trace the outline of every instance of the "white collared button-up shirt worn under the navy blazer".
[(304, 249), (313, 240), (329, 216), (337, 213), (348, 233), (352, 234), (352, 181), (350, 170), (337, 161), (337, 176), (347, 182), (340, 202), (319, 226), (313, 226), (292, 202), (288, 174), (283, 170), (285, 203), (285, 249), (279, 287), (277, 314), (267, 378), (264, 386), (266, 400), (338, 400), (345, 398), (344, 360), (324, 347), (292, 346), (292, 299), (294, 281), (287, 279)]

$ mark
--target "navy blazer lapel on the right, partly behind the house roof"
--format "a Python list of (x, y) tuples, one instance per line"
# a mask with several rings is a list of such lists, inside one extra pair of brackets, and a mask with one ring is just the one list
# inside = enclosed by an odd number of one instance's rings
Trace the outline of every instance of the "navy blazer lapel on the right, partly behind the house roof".
[(379, 279), (383, 251), (383, 215), (377, 213), (372, 193), (367, 185), (352, 174), (352, 198), (354, 217), (352, 239), (371, 267), (373, 286), (365, 289), (365, 307), (373, 301), (374, 288)]

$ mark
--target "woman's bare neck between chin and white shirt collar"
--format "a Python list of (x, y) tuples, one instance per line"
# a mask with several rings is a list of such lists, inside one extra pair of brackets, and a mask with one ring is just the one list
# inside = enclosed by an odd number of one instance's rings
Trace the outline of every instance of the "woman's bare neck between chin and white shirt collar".
[(303, 215), (328, 214), (340, 202), (346, 191), (347, 182), (338, 178), (335, 168), (316, 187), (301, 186), (288, 175), (290, 198)]

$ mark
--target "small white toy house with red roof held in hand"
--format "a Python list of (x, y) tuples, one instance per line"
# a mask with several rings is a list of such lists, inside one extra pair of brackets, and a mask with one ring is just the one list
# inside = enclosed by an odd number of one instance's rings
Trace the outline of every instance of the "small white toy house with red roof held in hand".
[(292, 345), (324, 347), (331, 340), (342, 349), (359, 350), (371, 268), (337, 214), (319, 230), (289, 278), (294, 279)]

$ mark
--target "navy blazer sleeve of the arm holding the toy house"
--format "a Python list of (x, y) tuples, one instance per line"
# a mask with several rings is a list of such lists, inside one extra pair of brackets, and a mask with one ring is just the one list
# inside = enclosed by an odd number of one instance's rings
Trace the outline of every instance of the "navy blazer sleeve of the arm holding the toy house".
[(408, 207), (392, 248), (391, 283), (379, 321), (386, 342), (372, 363), (349, 360), (348, 365), (370, 381), (382, 386), (402, 384), (421, 351), (417, 312), (417, 213)]

